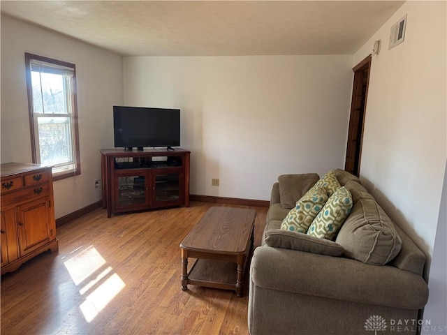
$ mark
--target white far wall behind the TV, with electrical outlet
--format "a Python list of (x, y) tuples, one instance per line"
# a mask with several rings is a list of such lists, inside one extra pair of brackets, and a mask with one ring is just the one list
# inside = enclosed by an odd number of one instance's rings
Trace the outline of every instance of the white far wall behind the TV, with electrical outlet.
[(279, 174), (344, 166), (351, 62), (352, 55), (124, 57), (124, 103), (182, 110), (191, 194), (269, 200)]

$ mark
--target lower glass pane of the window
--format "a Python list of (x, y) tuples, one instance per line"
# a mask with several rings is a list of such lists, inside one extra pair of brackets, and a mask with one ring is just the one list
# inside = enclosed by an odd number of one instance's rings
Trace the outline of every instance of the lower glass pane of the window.
[(38, 117), (41, 164), (73, 161), (71, 151), (71, 119), (69, 117)]

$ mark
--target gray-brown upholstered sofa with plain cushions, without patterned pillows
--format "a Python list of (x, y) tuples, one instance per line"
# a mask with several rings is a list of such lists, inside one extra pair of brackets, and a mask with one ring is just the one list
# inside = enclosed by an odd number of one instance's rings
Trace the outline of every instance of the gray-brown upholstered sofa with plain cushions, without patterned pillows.
[(250, 266), (251, 335), (418, 333), (428, 299), (425, 255), (357, 177), (335, 175), (353, 207), (334, 241), (279, 229), (317, 174), (282, 175), (273, 185), (263, 243)]

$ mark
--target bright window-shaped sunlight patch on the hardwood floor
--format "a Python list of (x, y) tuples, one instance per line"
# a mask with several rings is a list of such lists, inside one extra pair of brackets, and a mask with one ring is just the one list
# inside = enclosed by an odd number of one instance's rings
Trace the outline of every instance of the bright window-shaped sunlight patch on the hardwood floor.
[(113, 273), (112, 267), (106, 267), (101, 273), (94, 275), (107, 263), (94, 246), (89, 246), (85, 250), (82, 250), (82, 247), (77, 248), (72, 254), (75, 252), (79, 253), (64, 262), (64, 265), (73, 283), (82, 284), (79, 290), (81, 296), (93, 290), (80, 304), (85, 320), (91, 322), (126, 284), (117, 273)]

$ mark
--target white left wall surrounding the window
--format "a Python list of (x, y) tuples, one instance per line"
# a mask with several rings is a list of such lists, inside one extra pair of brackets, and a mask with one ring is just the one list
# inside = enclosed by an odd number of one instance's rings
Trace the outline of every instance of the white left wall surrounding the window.
[(122, 57), (1, 15), (1, 163), (31, 163), (24, 52), (76, 65), (81, 174), (54, 182), (56, 218), (101, 200), (99, 150), (113, 146), (112, 106), (122, 104)]

